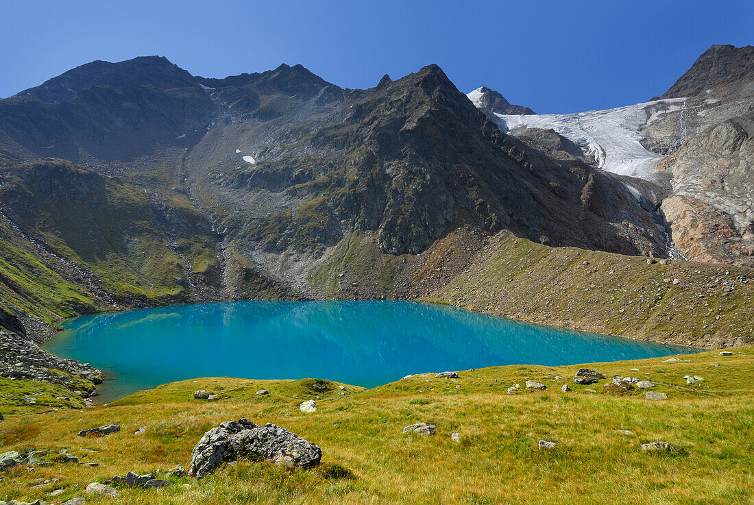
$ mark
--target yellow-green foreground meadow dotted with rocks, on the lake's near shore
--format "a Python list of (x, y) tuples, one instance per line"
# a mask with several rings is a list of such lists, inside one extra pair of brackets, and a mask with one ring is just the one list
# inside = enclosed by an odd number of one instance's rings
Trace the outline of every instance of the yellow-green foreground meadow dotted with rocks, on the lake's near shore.
[[(499, 366), (459, 372), (455, 381), (436, 378), (436, 370), (372, 390), (345, 386), (345, 396), (339, 384), (320, 393), (312, 380), (201, 378), (93, 409), (13, 413), (0, 423), (6, 450), (68, 448), (100, 466), (9, 470), (0, 500), (34, 500), (65, 488), (56, 498), (62, 503), (95, 480), (187, 465), (206, 430), (246, 417), (317, 443), (323, 466), (289, 470), (240, 462), (201, 481), (185, 477), (163, 490), (121, 489), (115, 500), (87, 497), (87, 503), (754, 503), (754, 347), (733, 352), (681, 355), (674, 363), (593, 364), (608, 379), (591, 386), (572, 382), (578, 366)], [(553, 380), (556, 375), (562, 379)], [(669, 399), (604, 393), (613, 375), (650, 378)], [(688, 386), (684, 375), (705, 380)], [(515, 383), (523, 389), (527, 378), (548, 389), (507, 394)], [(562, 393), (562, 384), (573, 390)], [(256, 395), (262, 388), (270, 394)], [(193, 399), (198, 389), (229, 397)], [(299, 402), (316, 395), (317, 412), (300, 412)], [(111, 422), (123, 430), (100, 438), (75, 435)], [(436, 424), (437, 434), (401, 433), (416, 422)], [(140, 426), (146, 433), (133, 435)], [(452, 441), (453, 432), (461, 442)], [(557, 445), (538, 449), (540, 439)], [(679, 451), (650, 454), (639, 447), (657, 440)], [(354, 479), (327, 479), (334, 464)], [(29, 487), (51, 478), (60, 481)]]

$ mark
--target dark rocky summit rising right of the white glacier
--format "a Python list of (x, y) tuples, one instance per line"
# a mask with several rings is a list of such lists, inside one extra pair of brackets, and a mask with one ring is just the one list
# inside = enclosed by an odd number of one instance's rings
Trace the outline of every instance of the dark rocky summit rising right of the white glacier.
[[(697, 58), (660, 98), (697, 96), (706, 90), (734, 87), (737, 93), (754, 93), (754, 46), (713, 45)], [(656, 98), (654, 98), (656, 99)]]

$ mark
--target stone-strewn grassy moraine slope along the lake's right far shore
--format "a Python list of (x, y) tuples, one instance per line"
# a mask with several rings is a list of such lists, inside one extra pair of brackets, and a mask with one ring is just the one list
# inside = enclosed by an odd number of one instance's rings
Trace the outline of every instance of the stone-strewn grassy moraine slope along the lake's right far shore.
[(548, 247), (507, 231), (426, 298), (562, 328), (697, 347), (754, 342), (754, 269)]

